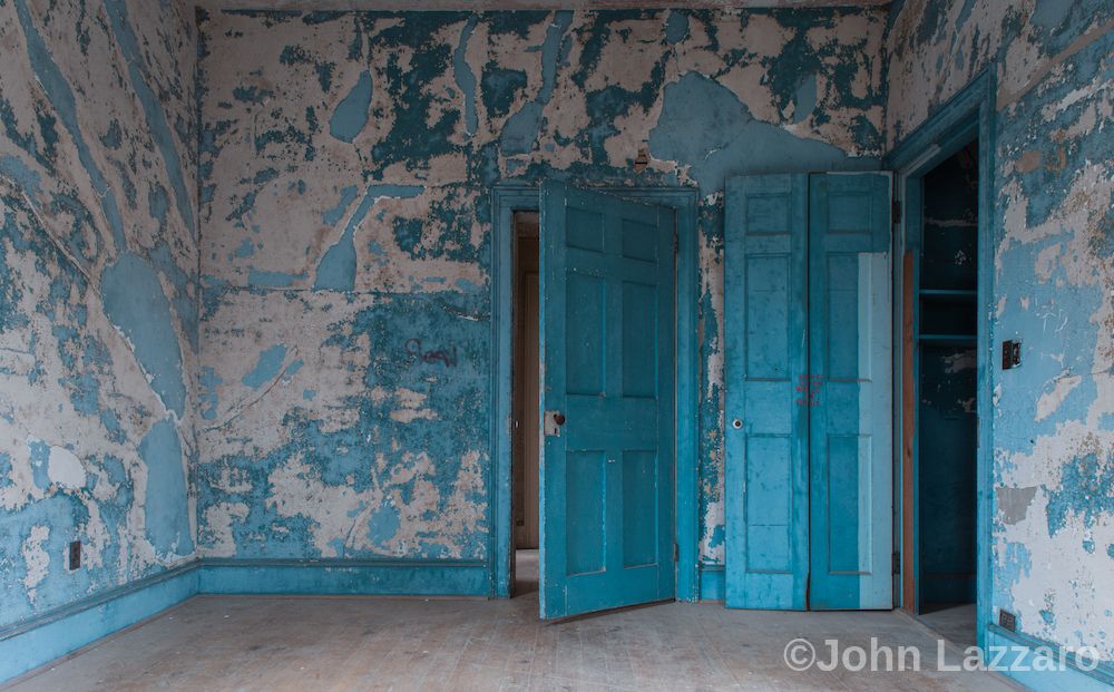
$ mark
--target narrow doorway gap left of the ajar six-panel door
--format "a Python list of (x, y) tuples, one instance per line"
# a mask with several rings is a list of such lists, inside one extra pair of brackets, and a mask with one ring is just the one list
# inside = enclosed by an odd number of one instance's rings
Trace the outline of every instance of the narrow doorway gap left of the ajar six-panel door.
[(537, 212), (514, 214), (514, 355), (511, 364), (511, 540), (515, 559), (512, 595), (538, 591), (538, 349), (539, 218)]

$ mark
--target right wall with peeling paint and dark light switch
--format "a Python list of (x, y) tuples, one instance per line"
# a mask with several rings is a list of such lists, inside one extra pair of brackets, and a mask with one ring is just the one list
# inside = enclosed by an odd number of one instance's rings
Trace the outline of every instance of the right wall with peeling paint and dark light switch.
[[(1018, 630), (1114, 660), (1114, 8), (910, 0), (887, 37), (890, 144), (997, 78), (993, 594)], [(996, 363), (990, 354), (990, 362)]]

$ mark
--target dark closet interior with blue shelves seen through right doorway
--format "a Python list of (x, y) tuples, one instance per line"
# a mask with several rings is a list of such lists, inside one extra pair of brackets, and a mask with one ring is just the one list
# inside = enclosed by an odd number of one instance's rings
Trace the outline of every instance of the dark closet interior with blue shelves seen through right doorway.
[(919, 242), (906, 265), (916, 292), (915, 352), (905, 363), (916, 459), (911, 610), (961, 646), (976, 644), (978, 147), (968, 143), (921, 177), (920, 237), (909, 238)]

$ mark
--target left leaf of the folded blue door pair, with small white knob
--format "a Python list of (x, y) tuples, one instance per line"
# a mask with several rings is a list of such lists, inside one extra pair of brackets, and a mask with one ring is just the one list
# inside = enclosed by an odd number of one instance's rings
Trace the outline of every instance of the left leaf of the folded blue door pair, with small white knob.
[(726, 605), (803, 610), (808, 176), (732, 178), (726, 191)]

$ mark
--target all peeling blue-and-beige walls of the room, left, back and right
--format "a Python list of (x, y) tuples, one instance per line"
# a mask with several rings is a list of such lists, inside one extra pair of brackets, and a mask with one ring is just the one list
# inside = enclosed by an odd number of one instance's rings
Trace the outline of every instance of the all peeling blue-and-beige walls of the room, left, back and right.
[(0, 0), (0, 626), (197, 554), (487, 558), (506, 179), (700, 189), (722, 565), (724, 178), (873, 168), (991, 69), (993, 602), (1114, 660), (1108, 3), (198, 21)]

